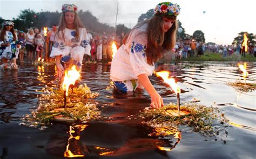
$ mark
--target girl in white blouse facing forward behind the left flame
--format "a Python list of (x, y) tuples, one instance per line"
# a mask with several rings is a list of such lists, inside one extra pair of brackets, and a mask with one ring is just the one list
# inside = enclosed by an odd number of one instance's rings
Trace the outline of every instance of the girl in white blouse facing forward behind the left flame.
[(84, 54), (90, 55), (90, 44), (87, 32), (74, 4), (62, 5), (62, 20), (55, 36), (50, 57), (56, 59), (57, 77), (62, 77), (64, 69), (69, 69), (73, 64), (77, 69), (82, 69)]

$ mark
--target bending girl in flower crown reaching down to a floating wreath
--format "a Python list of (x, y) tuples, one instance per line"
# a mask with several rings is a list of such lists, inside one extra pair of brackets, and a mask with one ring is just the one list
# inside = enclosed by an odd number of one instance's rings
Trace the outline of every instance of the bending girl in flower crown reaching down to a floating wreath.
[(159, 3), (150, 20), (136, 25), (125, 35), (111, 63), (110, 78), (114, 87), (124, 92), (144, 87), (151, 97), (151, 106), (157, 109), (164, 106), (163, 98), (148, 76), (154, 71), (154, 63), (176, 43), (179, 11), (178, 4)]

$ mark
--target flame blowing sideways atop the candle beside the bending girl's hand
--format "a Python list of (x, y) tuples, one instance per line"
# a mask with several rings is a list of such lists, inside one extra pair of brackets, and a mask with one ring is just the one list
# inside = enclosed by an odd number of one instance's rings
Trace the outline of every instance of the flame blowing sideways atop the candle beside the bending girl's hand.
[(174, 92), (176, 92), (176, 94), (180, 93), (180, 87), (175, 83), (175, 80), (173, 78), (169, 78), (169, 74), (169, 71), (160, 71), (156, 73), (157, 77), (162, 77), (164, 79), (164, 82), (169, 84)]

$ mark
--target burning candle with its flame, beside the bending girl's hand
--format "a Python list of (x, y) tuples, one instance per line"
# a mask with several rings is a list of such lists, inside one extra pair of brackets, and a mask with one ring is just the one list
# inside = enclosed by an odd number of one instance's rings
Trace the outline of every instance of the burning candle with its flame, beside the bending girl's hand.
[(177, 109), (180, 115), (180, 87), (176, 84), (175, 80), (173, 78), (169, 78), (169, 71), (160, 71), (156, 73), (157, 77), (161, 77), (164, 79), (164, 82), (166, 82), (167, 84), (169, 84), (171, 86), (171, 88), (174, 90), (174, 92), (176, 92), (177, 94)]

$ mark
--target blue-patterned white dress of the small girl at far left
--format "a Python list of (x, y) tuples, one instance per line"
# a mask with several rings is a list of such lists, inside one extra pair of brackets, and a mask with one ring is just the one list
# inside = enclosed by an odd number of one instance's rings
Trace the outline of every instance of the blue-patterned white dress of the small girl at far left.
[[(15, 34), (16, 39), (17, 35)], [(4, 35), (4, 41), (0, 41), (0, 46), (4, 43), (10, 43), (8, 47), (1, 47), (0, 49), (0, 59), (4, 57), (5, 59), (13, 60), (18, 59), (19, 49), (17, 48), (16, 41), (14, 40), (14, 35), (11, 32), (6, 31)]]

